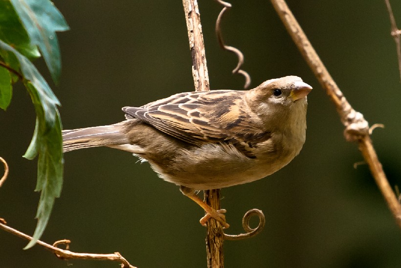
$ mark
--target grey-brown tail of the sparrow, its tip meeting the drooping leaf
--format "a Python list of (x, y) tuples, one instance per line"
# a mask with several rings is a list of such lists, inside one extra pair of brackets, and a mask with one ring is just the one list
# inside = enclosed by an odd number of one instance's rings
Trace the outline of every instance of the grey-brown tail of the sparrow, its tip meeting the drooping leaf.
[(121, 123), (63, 130), (62, 134), (64, 152), (96, 146), (118, 147), (129, 144), (121, 132)]

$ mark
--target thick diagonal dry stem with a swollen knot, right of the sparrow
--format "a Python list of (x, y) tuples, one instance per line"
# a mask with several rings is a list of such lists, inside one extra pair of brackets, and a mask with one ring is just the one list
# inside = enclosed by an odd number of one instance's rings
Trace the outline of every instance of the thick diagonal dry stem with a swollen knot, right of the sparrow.
[(312, 48), (302, 28), (295, 20), (286, 2), (284, 0), (271, 0), (271, 2), (290, 33), (292, 40), (301, 51), (322, 87), (326, 89), (327, 94), (334, 102), (341, 121), (345, 126), (344, 135), (346, 140), (358, 143), (359, 150), (366, 163), (369, 165), (369, 169), (375, 178), (376, 184), (396, 219), (397, 224), (401, 228), (401, 205), (387, 181), (376, 151), (372, 145), (369, 136), (368, 122), (365, 121), (361, 113), (356, 112), (351, 107), (343, 93), (337, 87), (316, 51)]

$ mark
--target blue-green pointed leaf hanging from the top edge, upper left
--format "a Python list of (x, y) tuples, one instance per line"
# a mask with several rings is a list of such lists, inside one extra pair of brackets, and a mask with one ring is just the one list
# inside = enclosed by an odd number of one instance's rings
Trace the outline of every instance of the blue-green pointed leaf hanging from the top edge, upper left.
[(63, 15), (49, 0), (11, 0), (31, 42), (41, 50), (53, 80), (61, 72), (60, 49), (56, 31), (69, 29)]

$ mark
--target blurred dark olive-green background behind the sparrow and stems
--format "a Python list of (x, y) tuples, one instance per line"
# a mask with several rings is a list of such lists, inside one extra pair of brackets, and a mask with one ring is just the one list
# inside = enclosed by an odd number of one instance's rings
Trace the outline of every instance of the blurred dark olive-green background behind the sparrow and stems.
[[(224, 244), (226, 267), (400, 267), (401, 232), (362, 156), (267, 0), (232, 0), (223, 21), (228, 45), (242, 50), (252, 87), (298, 75), (312, 85), (307, 141), (300, 155), (268, 178), (223, 189), (229, 234), (251, 208), (267, 224), (255, 238)], [(383, 123), (372, 136), (392, 185), (401, 185), (401, 83), (382, 0), (289, 0), (288, 4), (335, 81), (357, 111)], [(401, 1), (392, 1), (401, 25)], [(62, 80), (52, 85), (65, 129), (122, 121), (123, 106), (193, 90), (191, 55), (181, 1), (56, 0), (70, 31), (60, 33)], [(199, 1), (212, 89), (241, 89), (236, 57), (214, 33), (221, 7)], [(38, 66), (49, 77), (42, 60)], [(50, 81), (50, 79), (47, 79)], [(32, 234), (39, 200), (36, 161), (22, 158), (35, 124), (21, 85), (0, 112), (0, 156), (10, 175), (0, 188), (0, 217)], [(62, 196), (43, 240), (72, 240), (77, 252), (119, 251), (139, 268), (206, 267), (201, 209), (127, 152), (93, 148), (65, 155)], [(2, 167), (0, 167), (2, 173)], [(256, 225), (257, 223), (254, 222)], [(1, 268), (118, 267), (62, 261), (42, 247), (0, 231)]]

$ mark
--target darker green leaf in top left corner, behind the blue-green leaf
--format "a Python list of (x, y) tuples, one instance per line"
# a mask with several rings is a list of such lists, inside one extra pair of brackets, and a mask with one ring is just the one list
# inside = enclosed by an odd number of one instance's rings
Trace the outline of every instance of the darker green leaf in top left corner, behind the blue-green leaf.
[(9, 0), (0, 0), (0, 40), (28, 58), (40, 57), (38, 48), (29, 36)]

